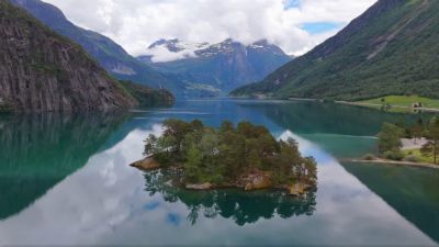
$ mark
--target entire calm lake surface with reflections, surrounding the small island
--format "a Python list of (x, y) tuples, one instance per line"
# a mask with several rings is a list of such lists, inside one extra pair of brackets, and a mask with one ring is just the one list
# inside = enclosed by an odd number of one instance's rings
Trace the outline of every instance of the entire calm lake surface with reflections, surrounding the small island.
[[(167, 117), (263, 124), (318, 161), (306, 198), (191, 192), (127, 165)], [(339, 164), (383, 121), (419, 115), (314, 102), (190, 101), (126, 114), (0, 116), (0, 246), (437, 245), (439, 171)], [(427, 117), (427, 116), (426, 116)]]

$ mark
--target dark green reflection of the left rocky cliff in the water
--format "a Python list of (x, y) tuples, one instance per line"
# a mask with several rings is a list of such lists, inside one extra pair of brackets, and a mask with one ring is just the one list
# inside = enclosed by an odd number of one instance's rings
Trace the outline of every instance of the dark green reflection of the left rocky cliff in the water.
[(83, 167), (126, 114), (10, 115), (0, 119), (0, 220), (26, 209)]

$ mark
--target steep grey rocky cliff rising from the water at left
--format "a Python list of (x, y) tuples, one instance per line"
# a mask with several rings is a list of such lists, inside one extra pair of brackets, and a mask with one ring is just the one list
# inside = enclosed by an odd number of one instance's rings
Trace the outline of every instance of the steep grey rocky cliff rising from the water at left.
[(0, 110), (82, 111), (136, 100), (81, 47), (0, 0)]

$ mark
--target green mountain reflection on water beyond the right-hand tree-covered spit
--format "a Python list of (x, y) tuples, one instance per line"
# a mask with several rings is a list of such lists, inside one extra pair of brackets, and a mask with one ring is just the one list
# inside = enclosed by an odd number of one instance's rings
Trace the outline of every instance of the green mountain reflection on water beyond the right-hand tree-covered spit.
[(415, 123), (419, 117), (427, 120), (430, 116), (429, 114), (390, 113), (362, 106), (309, 101), (277, 103), (275, 108), (271, 104), (248, 104), (247, 106), (259, 110), (273, 122), (295, 134), (374, 136), (383, 122), (409, 124)]

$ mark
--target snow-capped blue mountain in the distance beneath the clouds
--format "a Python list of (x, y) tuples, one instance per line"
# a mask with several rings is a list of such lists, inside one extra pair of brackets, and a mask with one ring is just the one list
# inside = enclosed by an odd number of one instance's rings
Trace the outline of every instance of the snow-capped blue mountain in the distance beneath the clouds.
[(173, 53), (178, 58), (155, 61), (154, 55), (147, 55), (138, 59), (161, 72), (179, 75), (188, 85), (211, 87), (223, 96), (237, 87), (263, 79), (292, 59), (267, 41), (245, 45), (230, 38), (218, 44), (159, 40), (148, 47), (150, 54), (155, 49)]

